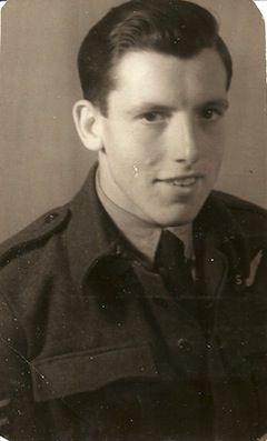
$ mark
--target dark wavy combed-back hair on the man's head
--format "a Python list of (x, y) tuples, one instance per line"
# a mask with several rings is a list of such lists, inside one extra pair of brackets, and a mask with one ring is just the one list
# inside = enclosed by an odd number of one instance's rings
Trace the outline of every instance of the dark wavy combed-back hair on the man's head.
[(202, 7), (185, 0), (130, 0), (112, 8), (81, 43), (78, 68), (83, 97), (107, 113), (115, 88), (112, 68), (131, 50), (150, 50), (191, 58), (214, 48), (224, 62), (230, 86), (230, 53), (218, 36), (218, 23)]

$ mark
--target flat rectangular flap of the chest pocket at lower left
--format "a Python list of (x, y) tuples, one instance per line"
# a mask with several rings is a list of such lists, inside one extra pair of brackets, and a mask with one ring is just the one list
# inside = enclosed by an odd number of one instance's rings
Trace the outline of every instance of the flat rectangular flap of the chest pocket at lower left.
[(119, 380), (156, 378), (158, 371), (150, 347), (144, 345), (39, 358), (32, 362), (31, 377), (36, 401), (47, 401)]

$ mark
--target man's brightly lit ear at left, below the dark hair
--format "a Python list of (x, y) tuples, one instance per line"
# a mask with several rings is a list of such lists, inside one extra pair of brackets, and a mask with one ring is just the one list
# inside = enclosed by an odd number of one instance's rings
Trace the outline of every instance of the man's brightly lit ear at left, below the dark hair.
[(88, 100), (80, 100), (75, 103), (72, 116), (83, 146), (91, 151), (102, 150), (99, 109)]

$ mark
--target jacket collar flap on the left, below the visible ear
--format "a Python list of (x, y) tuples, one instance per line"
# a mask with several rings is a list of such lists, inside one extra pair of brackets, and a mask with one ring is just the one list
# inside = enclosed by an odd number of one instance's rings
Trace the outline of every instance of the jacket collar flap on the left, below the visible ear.
[(67, 230), (67, 249), (73, 282), (82, 288), (85, 277), (107, 255), (120, 253), (120, 233), (103, 210), (96, 192), (97, 163), (70, 201), (71, 220)]

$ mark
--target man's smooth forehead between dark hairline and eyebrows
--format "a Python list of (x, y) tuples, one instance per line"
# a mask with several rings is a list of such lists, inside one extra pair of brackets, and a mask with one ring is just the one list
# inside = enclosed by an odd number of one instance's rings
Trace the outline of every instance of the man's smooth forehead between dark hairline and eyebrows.
[(150, 51), (127, 52), (113, 70), (115, 89), (110, 100), (120, 97), (136, 101), (201, 101), (226, 94), (225, 66), (214, 49), (194, 58)]

